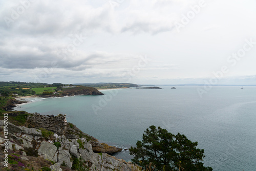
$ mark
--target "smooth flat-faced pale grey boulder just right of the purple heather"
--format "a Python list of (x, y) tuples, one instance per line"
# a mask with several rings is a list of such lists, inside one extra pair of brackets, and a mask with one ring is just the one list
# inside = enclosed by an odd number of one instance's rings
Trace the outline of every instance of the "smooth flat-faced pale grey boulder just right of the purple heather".
[(38, 148), (38, 155), (44, 157), (44, 159), (57, 162), (57, 147), (49, 142), (42, 141)]

